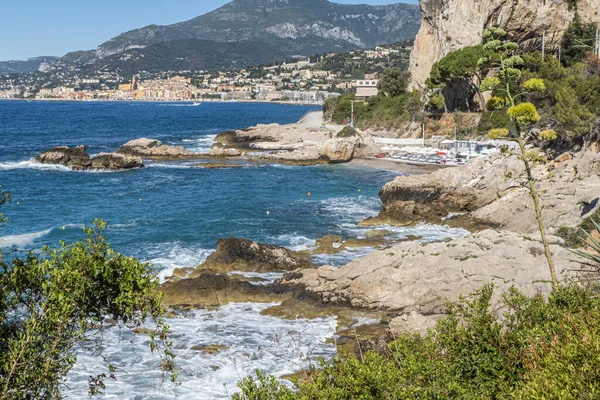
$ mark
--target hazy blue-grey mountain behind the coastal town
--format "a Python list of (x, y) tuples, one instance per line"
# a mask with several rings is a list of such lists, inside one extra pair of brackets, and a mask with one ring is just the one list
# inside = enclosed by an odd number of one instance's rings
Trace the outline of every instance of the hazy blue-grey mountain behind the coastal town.
[(419, 26), (419, 7), (411, 4), (233, 0), (189, 21), (122, 33), (61, 61), (124, 73), (227, 68), (414, 39)]

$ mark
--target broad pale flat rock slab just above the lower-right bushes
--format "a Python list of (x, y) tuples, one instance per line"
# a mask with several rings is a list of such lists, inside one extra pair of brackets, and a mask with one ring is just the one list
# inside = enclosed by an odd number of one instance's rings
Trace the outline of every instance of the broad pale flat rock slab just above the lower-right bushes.
[[(559, 240), (557, 238), (553, 238)], [(576, 257), (551, 246), (560, 279), (574, 276)], [(486, 230), (440, 243), (406, 242), (335, 268), (323, 266), (284, 277), (324, 302), (355, 307), (443, 314), (447, 301), (494, 283), (527, 295), (548, 293), (550, 273), (541, 243), (514, 232)], [(498, 299), (496, 299), (498, 300)]]

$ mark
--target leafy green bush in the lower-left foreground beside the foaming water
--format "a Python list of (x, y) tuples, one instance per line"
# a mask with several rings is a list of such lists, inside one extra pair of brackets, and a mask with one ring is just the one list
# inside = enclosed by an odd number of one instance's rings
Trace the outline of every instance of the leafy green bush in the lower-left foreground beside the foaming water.
[[(6, 194), (0, 198), (0, 204), (8, 200)], [(154, 322), (150, 350), (160, 354), (175, 382), (154, 274), (148, 264), (111, 250), (103, 236), (106, 223), (94, 225), (81, 242), (23, 258), (0, 254), (0, 400), (60, 397), (76, 347), (88, 329), (101, 332), (106, 317), (127, 326)], [(102, 346), (96, 349), (101, 355)], [(90, 378), (90, 395), (116, 379), (116, 366), (104, 359), (107, 373)]]

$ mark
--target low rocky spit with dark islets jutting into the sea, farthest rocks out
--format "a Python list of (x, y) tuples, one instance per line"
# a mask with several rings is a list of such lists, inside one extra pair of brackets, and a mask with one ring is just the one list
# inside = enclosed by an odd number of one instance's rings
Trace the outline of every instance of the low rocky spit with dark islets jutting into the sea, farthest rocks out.
[[(314, 116), (311, 114), (315, 114)], [(298, 123), (256, 125), (218, 134), (208, 152), (192, 152), (183, 146), (163, 144), (157, 139), (139, 138), (121, 145), (112, 153), (94, 157), (85, 146), (59, 146), (34, 160), (73, 170), (124, 171), (143, 168), (143, 160), (200, 160), (198, 168), (241, 168), (244, 164), (276, 163), (293, 166), (353, 163), (404, 173), (425, 173), (440, 165), (410, 165), (386, 162), (372, 156), (379, 152), (371, 135), (351, 127), (326, 125), (318, 113), (309, 113)]]

